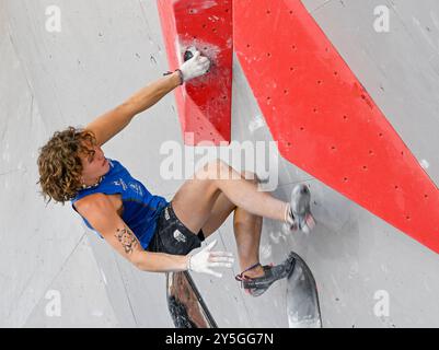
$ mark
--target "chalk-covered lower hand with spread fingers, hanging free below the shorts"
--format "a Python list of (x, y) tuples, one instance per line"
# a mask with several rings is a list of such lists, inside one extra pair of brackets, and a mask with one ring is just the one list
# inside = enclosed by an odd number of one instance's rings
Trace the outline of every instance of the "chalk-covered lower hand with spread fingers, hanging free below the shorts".
[(211, 242), (206, 248), (203, 250), (189, 255), (187, 259), (187, 269), (189, 271), (200, 272), (200, 273), (209, 273), (215, 277), (221, 278), (222, 275), (211, 270), (210, 268), (216, 267), (232, 267), (233, 257), (231, 253), (228, 252), (210, 252), (213, 246), (217, 244), (217, 241)]

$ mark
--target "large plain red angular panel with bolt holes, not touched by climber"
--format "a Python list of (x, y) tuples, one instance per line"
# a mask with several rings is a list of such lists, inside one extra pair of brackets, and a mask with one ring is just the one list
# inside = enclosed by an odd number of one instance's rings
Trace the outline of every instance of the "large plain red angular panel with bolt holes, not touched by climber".
[(439, 192), (298, 0), (233, 2), (234, 48), (279, 152), (439, 253)]

